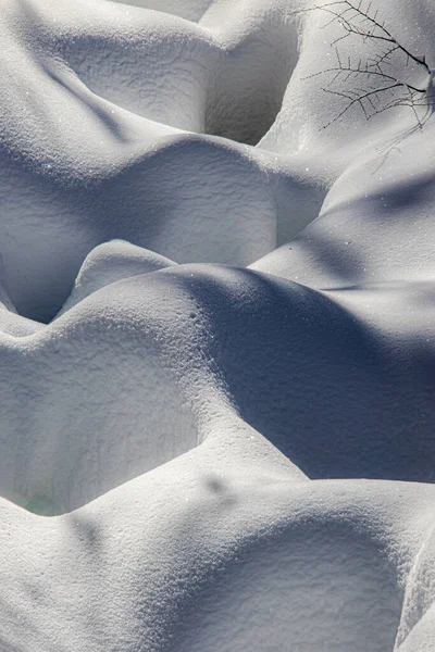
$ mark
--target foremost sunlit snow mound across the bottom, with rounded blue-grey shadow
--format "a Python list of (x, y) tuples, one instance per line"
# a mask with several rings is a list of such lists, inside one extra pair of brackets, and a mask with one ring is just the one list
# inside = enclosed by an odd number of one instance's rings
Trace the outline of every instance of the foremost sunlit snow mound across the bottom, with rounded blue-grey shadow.
[(432, 486), (210, 462), (178, 457), (57, 518), (3, 502), (3, 648), (424, 649), (415, 628), (395, 641)]

